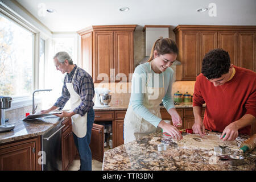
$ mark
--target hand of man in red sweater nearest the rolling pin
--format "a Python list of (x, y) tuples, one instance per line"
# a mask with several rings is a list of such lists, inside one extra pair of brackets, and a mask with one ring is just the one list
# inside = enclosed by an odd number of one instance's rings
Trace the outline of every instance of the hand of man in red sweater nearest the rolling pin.
[[(226, 134), (226, 136), (224, 137), (225, 134)], [(236, 123), (233, 122), (225, 127), (220, 139), (223, 139), (223, 141), (233, 141), (237, 137), (238, 137), (238, 128), (236, 126)]]

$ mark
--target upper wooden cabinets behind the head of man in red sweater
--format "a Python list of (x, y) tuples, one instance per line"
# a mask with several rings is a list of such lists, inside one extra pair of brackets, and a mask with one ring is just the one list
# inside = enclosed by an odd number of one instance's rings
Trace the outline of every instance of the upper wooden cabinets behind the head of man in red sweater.
[(176, 80), (196, 80), (205, 53), (214, 48), (229, 52), (232, 64), (256, 71), (256, 26), (179, 25), (174, 29), (179, 47)]

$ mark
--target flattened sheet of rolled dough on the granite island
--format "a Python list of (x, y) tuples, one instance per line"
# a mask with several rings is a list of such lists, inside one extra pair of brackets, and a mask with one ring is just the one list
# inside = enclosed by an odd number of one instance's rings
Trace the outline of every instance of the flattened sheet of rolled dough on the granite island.
[(214, 147), (228, 146), (232, 150), (238, 150), (236, 141), (223, 142), (218, 135), (205, 135), (203, 138), (199, 134), (188, 134), (183, 136), (183, 139), (177, 142), (179, 147), (200, 148), (205, 150), (213, 150)]

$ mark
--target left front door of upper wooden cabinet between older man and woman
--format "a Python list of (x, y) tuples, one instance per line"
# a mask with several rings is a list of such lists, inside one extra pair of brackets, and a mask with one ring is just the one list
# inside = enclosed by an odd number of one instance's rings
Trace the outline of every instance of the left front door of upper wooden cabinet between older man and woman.
[[(114, 72), (110, 72), (113, 65), (113, 31), (95, 32), (93, 53), (93, 81), (110, 81)], [(112, 75), (111, 75), (112, 74)]]

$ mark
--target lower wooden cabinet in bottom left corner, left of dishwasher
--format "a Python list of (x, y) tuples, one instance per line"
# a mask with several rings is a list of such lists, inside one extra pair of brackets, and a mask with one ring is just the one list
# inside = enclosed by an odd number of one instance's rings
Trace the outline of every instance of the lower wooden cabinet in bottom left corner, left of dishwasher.
[(0, 171), (40, 171), (40, 136), (0, 145)]

